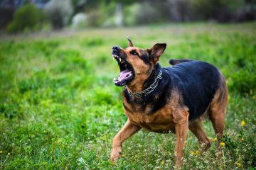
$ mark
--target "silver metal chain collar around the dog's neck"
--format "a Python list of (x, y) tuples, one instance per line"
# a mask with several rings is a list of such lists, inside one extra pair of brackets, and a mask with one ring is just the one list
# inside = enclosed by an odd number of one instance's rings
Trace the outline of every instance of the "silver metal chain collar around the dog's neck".
[(156, 89), (156, 86), (158, 86), (159, 79), (162, 79), (161, 75), (162, 75), (162, 72), (160, 70), (159, 74), (157, 75), (156, 79), (154, 80), (154, 83), (151, 84), (147, 89), (144, 89), (144, 91), (132, 93), (132, 91), (129, 91), (127, 89), (129, 96), (132, 96), (135, 98), (141, 98), (142, 96), (146, 96), (146, 95), (150, 94), (152, 91), (154, 91), (154, 89)]

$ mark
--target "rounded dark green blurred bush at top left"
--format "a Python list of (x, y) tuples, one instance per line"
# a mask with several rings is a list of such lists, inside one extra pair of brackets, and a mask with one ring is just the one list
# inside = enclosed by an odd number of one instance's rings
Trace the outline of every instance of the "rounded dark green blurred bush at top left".
[(33, 4), (26, 4), (14, 13), (14, 20), (7, 26), (9, 33), (17, 33), (23, 30), (38, 30), (43, 23), (43, 12)]

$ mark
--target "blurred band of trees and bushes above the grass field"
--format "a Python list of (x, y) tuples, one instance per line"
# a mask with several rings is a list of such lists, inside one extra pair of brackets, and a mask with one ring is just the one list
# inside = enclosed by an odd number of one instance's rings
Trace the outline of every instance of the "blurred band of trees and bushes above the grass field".
[(2, 33), (255, 18), (255, 0), (0, 0)]

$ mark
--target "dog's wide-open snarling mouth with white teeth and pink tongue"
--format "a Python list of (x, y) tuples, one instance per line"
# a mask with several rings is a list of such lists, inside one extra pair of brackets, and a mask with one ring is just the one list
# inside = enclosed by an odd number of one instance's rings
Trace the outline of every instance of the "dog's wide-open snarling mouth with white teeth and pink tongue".
[(124, 86), (134, 79), (132, 66), (118, 55), (112, 54), (112, 57), (117, 60), (120, 69), (118, 79), (114, 78), (114, 84), (116, 86)]

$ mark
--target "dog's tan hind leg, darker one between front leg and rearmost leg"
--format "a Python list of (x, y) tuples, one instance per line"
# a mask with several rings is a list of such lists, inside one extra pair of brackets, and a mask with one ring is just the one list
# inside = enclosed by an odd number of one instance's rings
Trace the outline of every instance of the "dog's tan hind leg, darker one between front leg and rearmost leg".
[(211, 142), (208, 139), (206, 132), (203, 131), (201, 118), (194, 120), (193, 123), (188, 126), (188, 128), (191, 130), (191, 132), (193, 132), (194, 135), (196, 135), (201, 149), (206, 150), (210, 147)]

